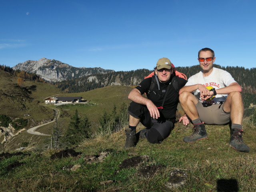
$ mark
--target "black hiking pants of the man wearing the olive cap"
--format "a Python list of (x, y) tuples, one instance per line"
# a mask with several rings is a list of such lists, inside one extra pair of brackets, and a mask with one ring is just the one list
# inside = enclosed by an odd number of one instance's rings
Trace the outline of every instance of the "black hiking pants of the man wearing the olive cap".
[(136, 102), (130, 103), (128, 113), (134, 118), (140, 119), (141, 124), (148, 129), (146, 134), (148, 142), (153, 144), (161, 143), (167, 138), (175, 122), (175, 118), (166, 120), (162, 115), (158, 119), (153, 119), (150, 116), (148, 108)]

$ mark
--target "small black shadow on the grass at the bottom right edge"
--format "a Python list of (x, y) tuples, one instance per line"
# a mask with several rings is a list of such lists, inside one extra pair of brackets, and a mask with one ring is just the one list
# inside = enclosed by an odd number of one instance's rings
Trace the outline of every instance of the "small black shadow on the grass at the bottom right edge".
[(238, 192), (238, 182), (236, 179), (219, 179), (217, 181), (218, 192)]

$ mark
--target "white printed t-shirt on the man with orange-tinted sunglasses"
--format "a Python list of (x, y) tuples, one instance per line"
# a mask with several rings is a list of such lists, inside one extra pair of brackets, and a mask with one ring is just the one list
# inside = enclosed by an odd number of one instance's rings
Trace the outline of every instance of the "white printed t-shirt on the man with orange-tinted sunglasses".
[[(203, 77), (202, 71), (188, 78), (188, 82), (185, 86), (202, 84), (209, 90), (211, 88), (215, 88), (215, 90), (224, 88), (229, 86), (232, 83), (236, 83), (234, 78), (230, 75), (229, 72), (224, 71), (219, 68), (213, 68), (211, 74), (207, 77)], [(200, 91), (197, 89), (193, 92), (193, 94), (202, 102), (200, 99)], [(214, 98), (204, 101), (205, 104), (219, 104), (220, 102), (224, 102), (228, 94), (217, 94)]]

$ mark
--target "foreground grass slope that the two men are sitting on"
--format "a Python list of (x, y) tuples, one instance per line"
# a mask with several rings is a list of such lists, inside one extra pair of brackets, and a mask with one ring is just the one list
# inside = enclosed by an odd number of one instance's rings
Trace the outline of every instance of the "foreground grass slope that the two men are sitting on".
[[(139, 126), (138, 130), (142, 129)], [(255, 192), (256, 190), (256, 130), (250, 119), (243, 122), (244, 141), (250, 153), (237, 152), (228, 145), (229, 126), (206, 125), (208, 139), (188, 144), (182, 138), (191, 133), (192, 126), (176, 123), (170, 136), (162, 144), (140, 140), (136, 147), (124, 149), (123, 130), (106, 136), (95, 136), (74, 147), (78, 156), (51, 160), (59, 150), (38, 152), (36, 145), (23, 154), (0, 158), (0, 186), (3, 192)], [(85, 158), (109, 155), (103, 162), (88, 164)], [(29, 155), (28, 155), (29, 154)], [(142, 166), (163, 166), (150, 178), (139, 176), (140, 167), (120, 168), (120, 164), (134, 156), (147, 155)], [(8, 165), (20, 165), (7, 170)], [(70, 167), (78, 166), (77, 170)], [(187, 173), (186, 184), (170, 190), (165, 186), (173, 170)], [(112, 182), (106, 182), (106, 181)], [(101, 183), (103, 182), (103, 184)], [(104, 183), (105, 182), (105, 183)]]

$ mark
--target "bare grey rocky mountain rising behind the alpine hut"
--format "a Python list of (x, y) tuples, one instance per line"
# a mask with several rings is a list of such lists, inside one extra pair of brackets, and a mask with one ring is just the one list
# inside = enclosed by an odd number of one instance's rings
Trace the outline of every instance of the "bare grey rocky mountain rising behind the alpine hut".
[(87, 75), (104, 74), (114, 72), (102, 68), (77, 68), (57, 60), (41, 58), (38, 61), (28, 60), (18, 63), (13, 67), (14, 70), (23, 70), (39, 75), (46, 81), (58, 82), (69, 79), (76, 79)]

